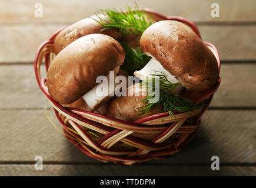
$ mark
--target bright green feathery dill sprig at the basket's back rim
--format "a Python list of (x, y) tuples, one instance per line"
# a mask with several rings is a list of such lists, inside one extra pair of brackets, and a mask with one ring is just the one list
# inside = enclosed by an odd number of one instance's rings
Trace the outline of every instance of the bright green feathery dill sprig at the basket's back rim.
[(152, 19), (147, 18), (145, 11), (140, 10), (136, 3), (134, 9), (130, 6), (124, 8), (121, 12), (117, 9), (99, 9), (95, 13), (99, 20), (92, 19), (104, 26), (104, 29), (118, 28), (120, 35), (141, 35), (152, 24)]

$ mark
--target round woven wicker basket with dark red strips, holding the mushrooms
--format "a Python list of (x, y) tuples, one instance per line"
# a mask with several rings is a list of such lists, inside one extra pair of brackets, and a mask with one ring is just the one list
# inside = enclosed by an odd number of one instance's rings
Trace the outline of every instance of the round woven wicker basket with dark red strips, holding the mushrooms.
[[(157, 12), (145, 9), (155, 21), (175, 20), (190, 26), (201, 38), (197, 26), (191, 21), (179, 16), (164, 16)], [(62, 28), (63, 29), (63, 28)], [(41, 78), (41, 63), (44, 60), (46, 72), (54, 59), (54, 39), (60, 29), (48, 40), (39, 46), (36, 53), (34, 68), (39, 88), (54, 108), (56, 117), (63, 126), (67, 139), (76, 145), (86, 155), (103, 162), (114, 162), (121, 165), (132, 165), (146, 162), (151, 159), (163, 159), (174, 155), (183, 149), (195, 136), (200, 125), (200, 118), (210, 105), (214, 92), (220, 85), (217, 84), (195, 102), (201, 102), (204, 107), (191, 113), (174, 112), (176, 118), (170, 117), (168, 112), (144, 117), (135, 122), (125, 122), (98, 113), (81, 109), (67, 108), (49, 96), (46, 88), (46, 79)], [(204, 42), (214, 53), (220, 72), (220, 56), (214, 45)], [(143, 139), (138, 134), (152, 134), (154, 138)]]

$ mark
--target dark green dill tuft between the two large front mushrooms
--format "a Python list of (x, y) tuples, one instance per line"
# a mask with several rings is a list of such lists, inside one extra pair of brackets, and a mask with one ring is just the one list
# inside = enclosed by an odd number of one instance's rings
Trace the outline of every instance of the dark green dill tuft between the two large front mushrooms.
[(125, 70), (134, 72), (140, 70), (149, 62), (151, 57), (142, 52), (141, 48), (131, 48), (125, 42), (121, 42), (121, 46), (125, 52), (124, 65)]

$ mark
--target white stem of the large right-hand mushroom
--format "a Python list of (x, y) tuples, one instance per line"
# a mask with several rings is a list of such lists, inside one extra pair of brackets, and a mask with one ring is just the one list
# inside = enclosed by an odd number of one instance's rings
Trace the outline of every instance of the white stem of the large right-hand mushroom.
[[(159, 72), (156, 72), (159, 71)], [(179, 80), (175, 78), (175, 76), (171, 75), (167, 69), (165, 69), (161, 63), (159, 63), (156, 59), (152, 58), (146, 66), (144, 66), (143, 69), (139, 71), (135, 71), (134, 75), (137, 76), (141, 80), (147, 80), (147, 78), (152, 78), (152, 75), (159, 75), (164, 73), (166, 76), (167, 80), (171, 83), (178, 83)], [(181, 90), (184, 87), (182, 85), (176, 86), (174, 89), (170, 91), (171, 95), (178, 96)]]

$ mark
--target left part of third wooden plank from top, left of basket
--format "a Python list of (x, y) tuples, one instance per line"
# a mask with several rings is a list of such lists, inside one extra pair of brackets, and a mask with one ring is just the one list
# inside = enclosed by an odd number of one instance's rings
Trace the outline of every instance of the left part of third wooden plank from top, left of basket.
[[(45, 68), (42, 67), (42, 73)], [(33, 65), (0, 66), (0, 108), (50, 107), (36, 82)], [(43, 78), (45, 78), (45, 73)]]

